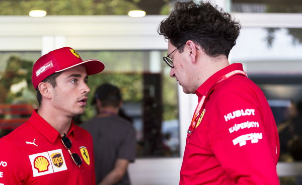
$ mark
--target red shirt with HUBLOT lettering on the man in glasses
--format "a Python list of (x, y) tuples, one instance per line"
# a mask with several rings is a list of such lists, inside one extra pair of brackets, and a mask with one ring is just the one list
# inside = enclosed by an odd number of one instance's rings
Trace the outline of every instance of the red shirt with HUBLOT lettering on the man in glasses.
[(200, 123), (187, 136), (180, 184), (279, 184), (279, 138), (261, 89), (244, 75), (218, 79), (242, 64), (229, 65), (197, 90)]

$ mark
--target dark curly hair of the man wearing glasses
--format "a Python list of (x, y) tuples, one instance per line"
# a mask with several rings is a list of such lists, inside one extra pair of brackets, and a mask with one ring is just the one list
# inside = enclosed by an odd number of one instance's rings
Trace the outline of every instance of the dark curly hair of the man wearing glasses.
[[(163, 20), (158, 33), (169, 39), (175, 47), (192, 40), (209, 56), (229, 56), (236, 44), (241, 25), (232, 16), (210, 3), (193, 1), (175, 4), (170, 16)], [(179, 48), (183, 52), (183, 46)]]

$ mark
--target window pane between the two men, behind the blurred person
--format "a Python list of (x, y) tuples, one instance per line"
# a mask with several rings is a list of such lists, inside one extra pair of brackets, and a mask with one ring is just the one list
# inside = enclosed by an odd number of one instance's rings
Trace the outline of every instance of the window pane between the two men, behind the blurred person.
[[(179, 156), (177, 83), (169, 76), (170, 68), (162, 62), (167, 51), (78, 52), (84, 60), (97, 58), (105, 64), (102, 73), (89, 78), (93, 93), (104, 82), (120, 87), (124, 101), (122, 110), (136, 130), (137, 156)], [(78, 123), (92, 118), (95, 113), (95, 107), (89, 104)]]

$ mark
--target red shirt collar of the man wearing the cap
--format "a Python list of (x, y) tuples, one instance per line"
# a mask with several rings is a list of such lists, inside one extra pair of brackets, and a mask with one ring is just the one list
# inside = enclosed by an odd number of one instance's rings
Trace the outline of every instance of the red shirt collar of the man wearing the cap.
[[(54, 144), (58, 137), (61, 137), (60, 133), (37, 113), (37, 109), (33, 111), (29, 118), (29, 122), (52, 144)], [(71, 121), (71, 126), (67, 136), (72, 136), (75, 139), (73, 120)]]

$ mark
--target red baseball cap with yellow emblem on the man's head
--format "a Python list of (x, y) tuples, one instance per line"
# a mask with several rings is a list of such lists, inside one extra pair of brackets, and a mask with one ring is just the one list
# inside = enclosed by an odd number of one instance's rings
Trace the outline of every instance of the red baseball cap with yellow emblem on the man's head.
[(100, 60), (83, 61), (74, 49), (63, 47), (50, 51), (36, 61), (32, 73), (33, 85), (37, 89), (38, 84), (49, 75), (78, 65), (83, 65), (86, 68), (87, 75), (99, 73), (105, 68)]

